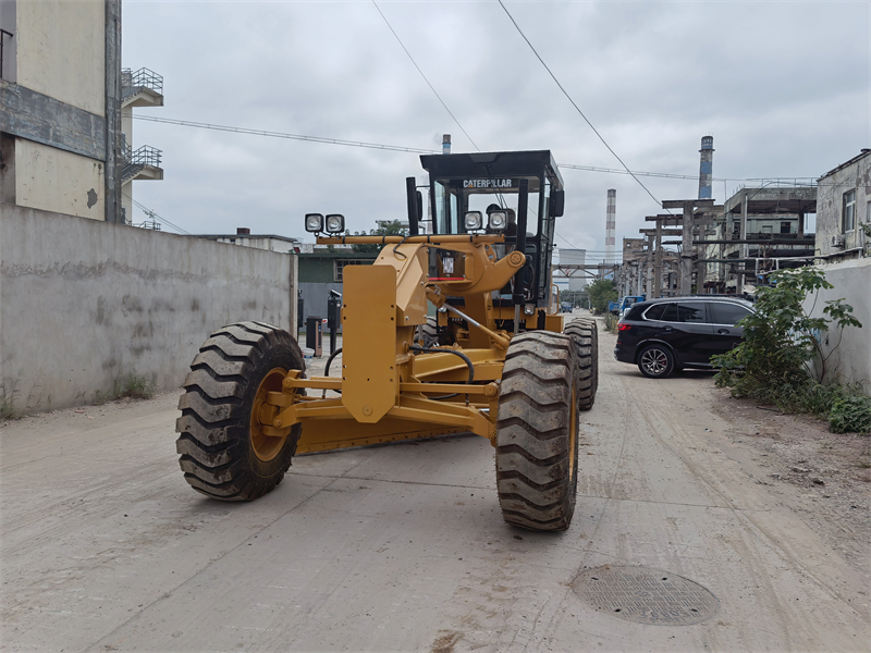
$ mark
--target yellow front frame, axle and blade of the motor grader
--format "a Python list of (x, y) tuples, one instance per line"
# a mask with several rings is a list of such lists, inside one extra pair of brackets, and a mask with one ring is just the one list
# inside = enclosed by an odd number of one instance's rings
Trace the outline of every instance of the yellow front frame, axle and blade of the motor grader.
[[(496, 259), (492, 244), (503, 239), (380, 239), (385, 247), (375, 264), (345, 269), (341, 378), (303, 379), (299, 370), (289, 371), (281, 391), (269, 392), (258, 408), (260, 432), (283, 438), (300, 424), (297, 453), (462, 432), (494, 443), (499, 383), (511, 336), (495, 331), (487, 315), (490, 305), (474, 297), (489, 297), (524, 264), (516, 252)], [(454, 252), (458, 276), (429, 278), (431, 247)], [(478, 321), (466, 316), (474, 325), (471, 346), (433, 352), (416, 344), (428, 301), (437, 307), (445, 303), (442, 291), (468, 297), (467, 310), (478, 316)], [(304, 390), (315, 396), (300, 394)], [(341, 395), (327, 397), (326, 391)]]

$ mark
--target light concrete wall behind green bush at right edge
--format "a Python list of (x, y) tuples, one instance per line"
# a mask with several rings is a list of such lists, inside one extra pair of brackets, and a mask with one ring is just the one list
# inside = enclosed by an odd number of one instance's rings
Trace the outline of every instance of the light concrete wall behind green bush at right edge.
[[(861, 329), (845, 329), (839, 345), (836, 328), (823, 336), (823, 352), (831, 353), (826, 369), (842, 382), (864, 383), (866, 392), (871, 392), (871, 258), (821, 266), (821, 269), (835, 287), (809, 296), (805, 310), (812, 310), (811, 317), (823, 317), (826, 300), (844, 298), (862, 323)], [(834, 377), (830, 374), (830, 378)]]

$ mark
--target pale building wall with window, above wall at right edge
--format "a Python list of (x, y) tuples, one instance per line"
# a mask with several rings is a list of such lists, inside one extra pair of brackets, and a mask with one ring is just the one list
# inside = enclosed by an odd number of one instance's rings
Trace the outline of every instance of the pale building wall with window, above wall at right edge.
[[(844, 194), (856, 190), (857, 227), (844, 233)], [(859, 223), (871, 223), (871, 153), (851, 165), (836, 170), (821, 177), (817, 187), (817, 254), (837, 255), (848, 249), (861, 247), (866, 238), (858, 227)], [(844, 234), (844, 247), (832, 247), (832, 236)], [(856, 256), (855, 254), (852, 256)]]

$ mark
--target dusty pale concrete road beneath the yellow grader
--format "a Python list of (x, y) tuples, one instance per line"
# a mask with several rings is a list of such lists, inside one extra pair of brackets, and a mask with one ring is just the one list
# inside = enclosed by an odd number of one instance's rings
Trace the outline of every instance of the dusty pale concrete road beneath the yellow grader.
[[(613, 345), (557, 534), (503, 522), (479, 438), (298, 457), (236, 505), (183, 480), (174, 394), (8, 422), (2, 650), (867, 651), (867, 569), (755, 482), (710, 374), (650, 381)], [(716, 614), (596, 609), (573, 581), (605, 565), (689, 579)]]

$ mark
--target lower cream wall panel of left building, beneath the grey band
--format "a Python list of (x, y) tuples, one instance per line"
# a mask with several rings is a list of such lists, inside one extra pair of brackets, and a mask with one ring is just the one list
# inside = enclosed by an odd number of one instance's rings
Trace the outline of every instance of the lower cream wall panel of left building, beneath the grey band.
[(15, 200), (23, 207), (106, 219), (103, 164), (33, 140), (15, 145)]

